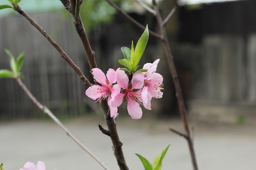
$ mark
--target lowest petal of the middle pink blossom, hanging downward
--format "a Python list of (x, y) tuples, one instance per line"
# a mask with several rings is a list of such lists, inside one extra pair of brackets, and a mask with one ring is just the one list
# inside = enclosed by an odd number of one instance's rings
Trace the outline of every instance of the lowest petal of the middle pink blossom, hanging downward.
[(139, 107), (139, 103), (132, 99), (128, 99), (127, 110), (132, 119), (140, 119), (142, 117), (142, 109)]

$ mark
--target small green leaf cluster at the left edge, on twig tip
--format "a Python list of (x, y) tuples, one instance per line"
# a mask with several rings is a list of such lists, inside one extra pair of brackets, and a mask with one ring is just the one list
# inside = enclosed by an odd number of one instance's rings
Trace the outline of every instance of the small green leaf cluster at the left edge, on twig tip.
[(11, 71), (7, 69), (0, 70), (0, 78), (15, 78), (17, 76), (22, 78), (23, 75), (21, 74), (20, 70), (24, 61), (24, 53), (21, 52), (16, 60), (14, 59), (13, 55), (9, 50), (6, 49), (5, 53), (7, 53), (7, 55), (9, 55), (10, 57)]

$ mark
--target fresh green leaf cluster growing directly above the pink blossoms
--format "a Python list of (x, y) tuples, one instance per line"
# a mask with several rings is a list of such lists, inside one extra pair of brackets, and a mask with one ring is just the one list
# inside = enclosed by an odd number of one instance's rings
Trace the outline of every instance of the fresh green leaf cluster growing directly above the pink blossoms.
[(146, 69), (137, 70), (137, 68), (139, 67), (138, 66), (139, 61), (148, 43), (148, 36), (149, 36), (149, 33), (148, 33), (148, 25), (147, 25), (145, 31), (142, 33), (141, 37), (139, 38), (135, 46), (135, 49), (133, 47), (133, 41), (132, 41), (131, 49), (129, 49), (126, 46), (121, 47), (121, 51), (123, 52), (124, 59), (118, 60), (118, 62), (126, 67), (121, 69), (124, 71), (127, 71), (129, 75), (133, 75), (137, 71), (147, 71)]

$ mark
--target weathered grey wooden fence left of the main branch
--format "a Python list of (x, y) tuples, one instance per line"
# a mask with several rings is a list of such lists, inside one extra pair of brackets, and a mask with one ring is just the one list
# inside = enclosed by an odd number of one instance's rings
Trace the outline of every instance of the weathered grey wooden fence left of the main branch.
[[(72, 60), (91, 78), (83, 47), (71, 18), (59, 13), (34, 13), (31, 17), (64, 49)], [(60, 54), (30, 23), (20, 15), (0, 19), (0, 68), (9, 69), (9, 49), (16, 57), (25, 52), (22, 73), (24, 82), (36, 98), (57, 114), (84, 114), (85, 85)], [(90, 103), (90, 101), (88, 101)], [(93, 101), (92, 101), (93, 103)], [(14, 79), (0, 79), (0, 117), (40, 117)]]

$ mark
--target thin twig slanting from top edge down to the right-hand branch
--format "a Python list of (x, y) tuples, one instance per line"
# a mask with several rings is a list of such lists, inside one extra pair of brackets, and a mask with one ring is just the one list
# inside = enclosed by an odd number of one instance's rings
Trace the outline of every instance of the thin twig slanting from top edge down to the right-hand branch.
[[(145, 30), (146, 26), (142, 25), (141, 23), (137, 22), (135, 19), (133, 19), (130, 15), (128, 15), (124, 10), (122, 10), (121, 8), (119, 8), (114, 2), (112, 2), (111, 0), (106, 0), (110, 5), (112, 5), (112, 7), (114, 7), (118, 12), (120, 12), (121, 14), (123, 14), (124, 16), (126, 16), (126, 18), (128, 18), (131, 22), (133, 22), (135, 25), (137, 25), (138, 27), (140, 27), (141, 29)], [(154, 31), (148, 30), (148, 32), (155, 36), (156, 38), (161, 39), (161, 35), (159, 35), (158, 33), (155, 33)]]

